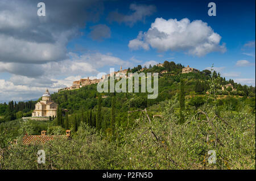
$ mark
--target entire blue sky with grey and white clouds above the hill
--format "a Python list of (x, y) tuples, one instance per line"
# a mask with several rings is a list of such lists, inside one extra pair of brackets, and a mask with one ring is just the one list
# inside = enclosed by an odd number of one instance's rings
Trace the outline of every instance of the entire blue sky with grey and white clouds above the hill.
[(255, 86), (255, 1), (209, 2), (1, 0), (0, 100), (165, 60)]

